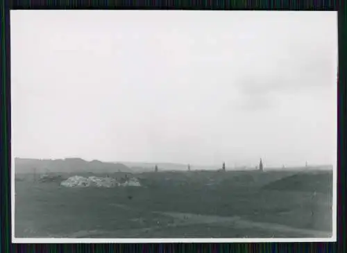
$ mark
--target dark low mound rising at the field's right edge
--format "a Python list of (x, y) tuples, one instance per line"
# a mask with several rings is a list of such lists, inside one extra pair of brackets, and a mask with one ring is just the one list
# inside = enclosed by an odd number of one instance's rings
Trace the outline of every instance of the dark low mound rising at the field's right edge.
[(298, 173), (266, 184), (263, 189), (330, 193), (332, 191), (332, 173)]

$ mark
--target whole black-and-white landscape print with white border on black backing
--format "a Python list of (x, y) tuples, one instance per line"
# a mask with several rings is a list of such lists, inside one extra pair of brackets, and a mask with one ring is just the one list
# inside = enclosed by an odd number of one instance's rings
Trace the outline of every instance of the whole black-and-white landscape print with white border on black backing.
[(337, 12), (11, 10), (12, 240), (336, 241)]

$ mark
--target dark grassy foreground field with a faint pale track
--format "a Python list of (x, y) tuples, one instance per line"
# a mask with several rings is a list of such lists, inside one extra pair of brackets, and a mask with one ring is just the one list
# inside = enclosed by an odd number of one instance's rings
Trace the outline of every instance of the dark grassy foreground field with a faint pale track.
[(142, 186), (65, 188), (58, 182), (16, 180), (15, 237), (321, 238), (332, 234), (331, 171), (134, 176)]

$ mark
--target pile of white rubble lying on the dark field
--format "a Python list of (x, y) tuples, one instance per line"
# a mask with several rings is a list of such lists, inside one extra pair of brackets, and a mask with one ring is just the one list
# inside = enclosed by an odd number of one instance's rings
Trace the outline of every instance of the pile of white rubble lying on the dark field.
[(112, 177), (81, 177), (75, 175), (69, 177), (67, 180), (60, 183), (61, 186), (65, 187), (116, 187), (116, 186), (141, 186), (139, 181), (135, 178), (128, 178), (124, 183), (117, 182)]

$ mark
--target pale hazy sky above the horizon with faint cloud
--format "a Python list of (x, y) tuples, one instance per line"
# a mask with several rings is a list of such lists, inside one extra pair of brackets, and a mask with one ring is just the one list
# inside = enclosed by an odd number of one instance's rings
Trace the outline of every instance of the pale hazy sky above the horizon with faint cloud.
[(16, 157), (335, 161), (336, 12), (10, 15)]

